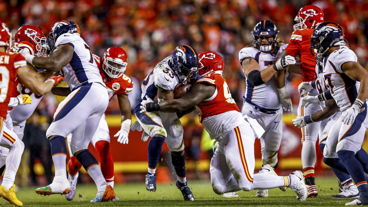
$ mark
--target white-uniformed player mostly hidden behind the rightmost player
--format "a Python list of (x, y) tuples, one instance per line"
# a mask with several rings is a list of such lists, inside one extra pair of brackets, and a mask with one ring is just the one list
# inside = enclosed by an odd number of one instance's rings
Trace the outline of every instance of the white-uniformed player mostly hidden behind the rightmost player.
[[(343, 46), (348, 46), (348, 42), (344, 40), (341, 42)], [(325, 85), (323, 76), (323, 57), (316, 57), (316, 80), (311, 82), (303, 82), (299, 85), (298, 90), (301, 94), (302, 106), (307, 108), (309, 105), (309, 100), (315, 100), (315, 104), (321, 104), (324, 106), (323, 110), (319, 110), (311, 115), (311, 119), (316, 121), (321, 121), (321, 127), (319, 129), (319, 147), (323, 153), (323, 162), (330, 166), (332, 171), (335, 173), (337, 179), (341, 186), (339, 186), (339, 194), (332, 196), (333, 198), (352, 198), (357, 196), (358, 189), (357, 186), (351, 180), (346, 168), (343, 166), (336, 153), (337, 138), (339, 136), (338, 132), (340, 125), (335, 124), (339, 117), (341, 116), (341, 111), (338, 110), (339, 107), (336, 102), (332, 99), (329, 94), (329, 90)], [(306, 95), (312, 88), (316, 88), (318, 96), (312, 97)], [(320, 102), (319, 99), (327, 97), (330, 100), (325, 102)], [(321, 106), (321, 107), (322, 107)], [(298, 116), (293, 120), (295, 123), (299, 123), (304, 116)], [(302, 126), (296, 125), (298, 128)], [(327, 143), (327, 144), (326, 144)], [(367, 177), (367, 176), (366, 176)]]

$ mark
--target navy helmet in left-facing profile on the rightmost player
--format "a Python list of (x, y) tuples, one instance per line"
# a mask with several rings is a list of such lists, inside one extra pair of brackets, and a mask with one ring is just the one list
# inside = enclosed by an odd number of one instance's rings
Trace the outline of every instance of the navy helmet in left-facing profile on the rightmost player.
[(331, 47), (343, 44), (343, 28), (335, 22), (322, 22), (313, 31), (309, 50), (314, 56), (322, 56)]

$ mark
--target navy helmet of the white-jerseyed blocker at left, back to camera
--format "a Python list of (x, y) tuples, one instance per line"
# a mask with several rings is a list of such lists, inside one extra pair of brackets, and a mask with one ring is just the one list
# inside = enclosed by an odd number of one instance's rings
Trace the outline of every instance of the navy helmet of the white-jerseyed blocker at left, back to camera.
[(78, 25), (71, 20), (61, 20), (56, 22), (49, 33), (49, 46), (51, 52), (53, 52), (55, 49), (57, 38), (65, 33), (81, 35), (81, 30), (79, 29)]

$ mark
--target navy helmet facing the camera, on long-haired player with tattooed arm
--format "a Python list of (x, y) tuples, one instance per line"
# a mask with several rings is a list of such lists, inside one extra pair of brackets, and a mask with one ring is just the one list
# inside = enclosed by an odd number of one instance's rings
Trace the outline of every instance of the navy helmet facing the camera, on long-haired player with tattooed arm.
[[(277, 27), (269, 20), (263, 20), (258, 22), (252, 32), (252, 39), (254, 47), (261, 50), (262, 52), (269, 52), (273, 50), (277, 46), (277, 36), (279, 35), (279, 31), (277, 31)], [(262, 43), (262, 39), (259, 38), (268, 38), (268, 43)], [(273, 40), (270, 38), (273, 37)]]

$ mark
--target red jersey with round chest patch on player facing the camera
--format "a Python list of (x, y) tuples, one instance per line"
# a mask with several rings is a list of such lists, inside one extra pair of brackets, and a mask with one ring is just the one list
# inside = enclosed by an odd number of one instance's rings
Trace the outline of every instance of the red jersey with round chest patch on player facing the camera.
[(110, 78), (102, 70), (101, 58), (93, 54), (94, 59), (98, 69), (100, 70), (100, 75), (102, 76), (103, 83), (105, 83), (107, 92), (109, 93), (109, 100), (113, 98), (114, 95), (126, 94), (128, 95), (133, 89), (133, 81), (129, 76), (123, 74), (118, 78)]

